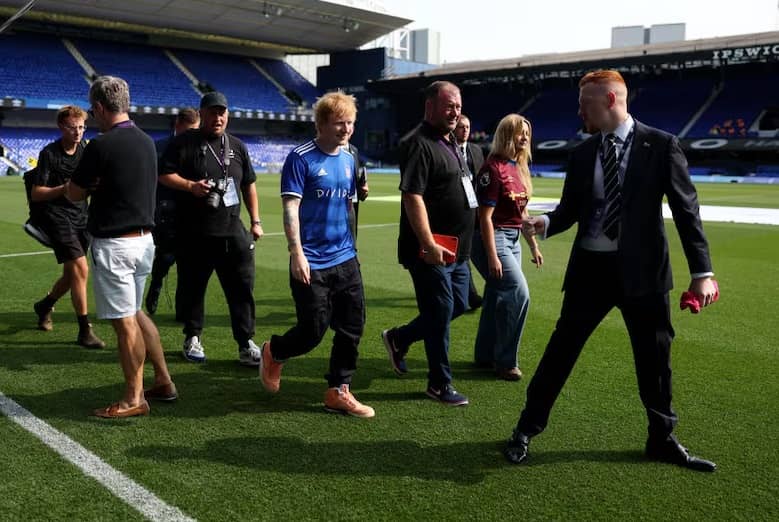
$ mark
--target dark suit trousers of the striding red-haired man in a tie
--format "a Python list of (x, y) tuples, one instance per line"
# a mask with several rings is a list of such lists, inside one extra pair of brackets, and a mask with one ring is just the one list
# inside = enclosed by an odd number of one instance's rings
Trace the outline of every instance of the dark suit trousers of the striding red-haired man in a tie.
[(615, 253), (577, 252), (560, 318), (527, 389), (520, 432), (541, 433), (557, 396), (595, 328), (615, 306), (633, 347), (638, 392), (649, 421), (649, 437), (664, 440), (677, 417), (671, 408), (671, 341), (674, 337), (668, 293), (625, 297)]

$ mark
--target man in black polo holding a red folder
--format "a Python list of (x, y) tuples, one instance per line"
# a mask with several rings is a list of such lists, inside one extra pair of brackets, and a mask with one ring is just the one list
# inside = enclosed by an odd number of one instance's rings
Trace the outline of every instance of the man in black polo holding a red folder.
[(425, 90), (425, 118), (400, 144), (398, 260), (414, 283), (419, 315), (381, 334), (392, 367), (406, 373), (409, 346), (424, 340), (427, 395), (463, 406), (452, 386), (449, 323), (468, 307), (468, 257), (476, 195), (452, 131), (462, 109), (456, 85), (437, 81)]

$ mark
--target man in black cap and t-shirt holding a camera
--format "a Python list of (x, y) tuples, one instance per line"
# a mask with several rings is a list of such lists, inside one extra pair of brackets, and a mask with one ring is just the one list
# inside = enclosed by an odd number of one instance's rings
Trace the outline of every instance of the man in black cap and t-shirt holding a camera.
[[(200, 100), (200, 128), (173, 138), (160, 183), (178, 192), (176, 317), (184, 323), (184, 357), (204, 362), (201, 343), (208, 280), (216, 271), (230, 310), (239, 361), (259, 366), (254, 343), (254, 241), (263, 235), (255, 174), (246, 145), (227, 132), (227, 98)], [(241, 196), (250, 230), (241, 221)]]

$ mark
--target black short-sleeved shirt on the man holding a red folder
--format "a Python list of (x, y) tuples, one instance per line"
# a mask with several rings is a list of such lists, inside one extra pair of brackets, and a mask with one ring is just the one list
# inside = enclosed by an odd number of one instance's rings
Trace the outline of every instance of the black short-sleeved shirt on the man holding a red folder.
[[(462, 261), (470, 256), (475, 212), (468, 205), (461, 181), (467, 176), (467, 167), (453, 143), (453, 136), (450, 141), (444, 140), (426, 122), (417, 126), (400, 143), (398, 188), (422, 196), (430, 230), (434, 234), (457, 236), (457, 259)], [(401, 204), (398, 260), (408, 266), (418, 257), (419, 242)]]

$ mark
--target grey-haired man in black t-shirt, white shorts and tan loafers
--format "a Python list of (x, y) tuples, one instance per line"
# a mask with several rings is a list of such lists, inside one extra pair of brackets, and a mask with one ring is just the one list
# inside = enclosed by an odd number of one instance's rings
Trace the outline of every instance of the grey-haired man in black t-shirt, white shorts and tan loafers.
[[(127, 111), (127, 82), (100, 76), (89, 89), (90, 113), (102, 134), (84, 149), (68, 198), (90, 195), (87, 228), (92, 242), (97, 314), (111, 320), (125, 378), (119, 402), (95, 410), (98, 417), (133, 417), (149, 413), (146, 399), (178, 397), (160, 343), (160, 334), (141, 310), (143, 289), (154, 259), (154, 199), (157, 157), (154, 142), (138, 129)], [(143, 363), (154, 366), (154, 386), (143, 390)]]

